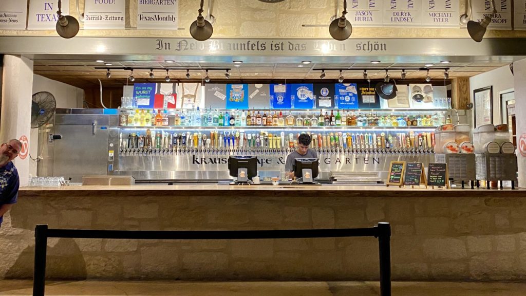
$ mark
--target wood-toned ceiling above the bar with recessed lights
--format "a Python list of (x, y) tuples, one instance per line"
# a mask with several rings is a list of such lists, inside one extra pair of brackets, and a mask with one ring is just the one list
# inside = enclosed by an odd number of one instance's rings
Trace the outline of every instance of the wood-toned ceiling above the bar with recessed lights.
[[(208, 76), (211, 82), (225, 82), (225, 69), (230, 68), (231, 81), (254, 81), (254, 80), (319, 80), (321, 69), (325, 69), (325, 80), (337, 80), (339, 70), (346, 79), (362, 79), (364, 68), (375, 68), (368, 70), (369, 77), (382, 78), (385, 75), (383, 69), (391, 70), (392, 78), (400, 79), (401, 68), (418, 69), (424, 67), (424, 62), (389, 62), (389, 63), (276, 63), (274, 61), (245, 61), (239, 67), (231, 62), (174, 62), (166, 63), (159, 61), (159, 57), (141, 57), (141, 60), (129, 60), (116, 56), (103, 56), (105, 63), (112, 65), (106, 66), (98, 63), (94, 59), (86, 60), (86, 57), (72, 56), (62, 57), (37, 57), (34, 58), (35, 74), (48, 77), (52, 80), (64, 82), (79, 88), (88, 89), (98, 87), (97, 79), (102, 81), (104, 87), (122, 87), (127, 83), (129, 70), (123, 68), (134, 68), (135, 83), (165, 82), (166, 69), (169, 69), (169, 76), (173, 81), (186, 80), (186, 69), (190, 70), (190, 81), (201, 81), (206, 76), (205, 70), (210, 69)], [(161, 57), (162, 58), (162, 57)], [(261, 59), (259, 59), (261, 60)], [(396, 60), (396, 59), (395, 59)], [(468, 61), (451, 62), (449, 64), (436, 63), (430, 67), (429, 75), (433, 79), (443, 80), (443, 68), (449, 67), (449, 77), (471, 77), (480, 73), (488, 72), (508, 65), (509, 61)], [(298, 67), (302, 65), (303, 67)], [(110, 78), (106, 77), (107, 68), (112, 73)], [(155, 77), (149, 78), (150, 68), (154, 70)], [(440, 68), (440, 69), (437, 69)], [(214, 70), (216, 69), (216, 70)], [(407, 79), (422, 80), (427, 76), (426, 71), (406, 70)], [(133, 84), (128, 81), (128, 84)]]

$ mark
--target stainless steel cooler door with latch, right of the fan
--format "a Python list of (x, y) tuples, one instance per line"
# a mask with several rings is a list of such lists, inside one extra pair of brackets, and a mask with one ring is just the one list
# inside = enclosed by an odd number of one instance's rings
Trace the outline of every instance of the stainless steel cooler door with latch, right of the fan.
[(108, 128), (91, 125), (57, 125), (54, 141), (53, 175), (82, 182), (82, 175), (106, 175), (108, 168)]

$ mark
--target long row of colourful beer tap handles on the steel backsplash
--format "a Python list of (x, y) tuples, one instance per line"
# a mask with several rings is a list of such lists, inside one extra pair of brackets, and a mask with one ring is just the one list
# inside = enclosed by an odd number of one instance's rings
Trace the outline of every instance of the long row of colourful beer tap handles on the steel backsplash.
[[(434, 133), (310, 133), (310, 148), (319, 153), (430, 153)], [(300, 133), (249, 133), (244, 131), (165, 132), (119, 135), (121, 155), (180, 153), (262, 153), (294, 151)]]

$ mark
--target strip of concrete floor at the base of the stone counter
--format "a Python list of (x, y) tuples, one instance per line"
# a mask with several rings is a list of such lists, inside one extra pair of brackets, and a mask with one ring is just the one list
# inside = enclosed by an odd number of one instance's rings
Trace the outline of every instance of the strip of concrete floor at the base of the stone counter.
[[(393, 282), (393, 296), (524, 296), (526, 283)], [(2, 280), (0, 295), (31, 295), (32, 281)], [(378, 282), (48, 281), (46, 295), (376, 296)]]

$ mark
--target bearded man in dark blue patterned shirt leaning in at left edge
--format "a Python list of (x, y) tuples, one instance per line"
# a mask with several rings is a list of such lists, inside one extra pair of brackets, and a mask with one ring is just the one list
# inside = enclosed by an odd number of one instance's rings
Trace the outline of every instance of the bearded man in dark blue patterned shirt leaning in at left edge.
[(4, 220), (4, 214), (13, 207), (18, 198), (18, 171), (12, 160), (18, 156), (22, 149), (22, 143), (11, 139), (0, 145), (0, 227)]

